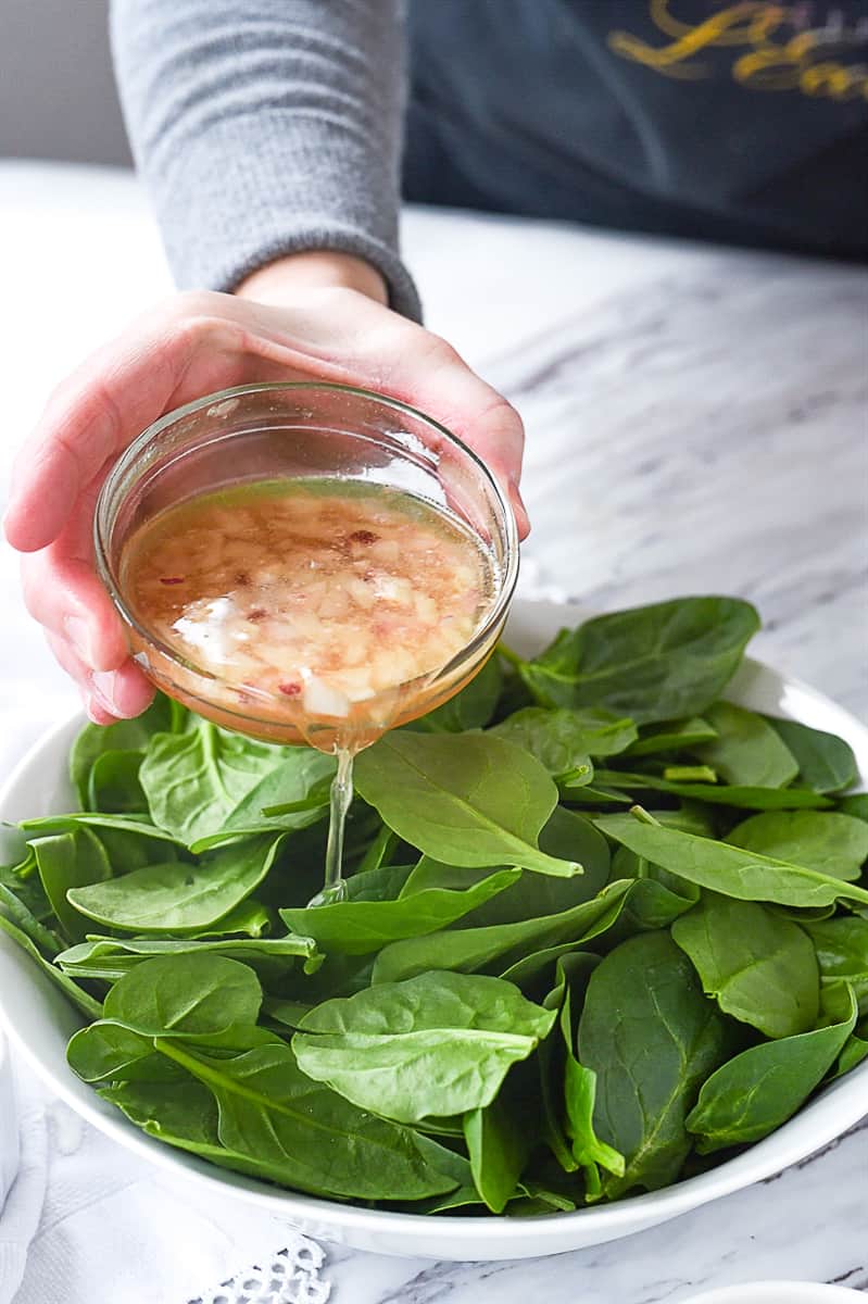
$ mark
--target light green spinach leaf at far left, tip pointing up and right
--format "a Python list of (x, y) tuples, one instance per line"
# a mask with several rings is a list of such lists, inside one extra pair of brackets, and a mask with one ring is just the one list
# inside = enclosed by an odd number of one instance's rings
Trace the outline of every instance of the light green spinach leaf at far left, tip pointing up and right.
[(195, 865), (146, 865), (119, 879), (73, 888), (68, 900), (81, 914), (109, 928), (198, 932), (250, 896), (271, 868), (279, 844), (280, 836), (266, 833), (211, 852)]

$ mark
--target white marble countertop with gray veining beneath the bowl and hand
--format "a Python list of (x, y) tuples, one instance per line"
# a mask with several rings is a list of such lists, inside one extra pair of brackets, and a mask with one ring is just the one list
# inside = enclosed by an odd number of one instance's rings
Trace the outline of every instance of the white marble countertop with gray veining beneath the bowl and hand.
[[(3, 498), (51, 386), (171, 283), (123, 172), (0, 164), (0, 244)], [(868, 273), (430, 211), (408, 214), (405, 252), (429, 326), (524, 416), (525, 582), (598, 608), (739, 593), (764, 615), (756, 655), (868, 716)], [(76, 695), (5, 545), (0, 610), (3, 778)], [(334, 1249), (326, 1275), (338, 1304), (675, 1304), (770, 1277), (868, 1292), (867, 1194), (868, 1120), (596, 1249), (457, 1265)]]

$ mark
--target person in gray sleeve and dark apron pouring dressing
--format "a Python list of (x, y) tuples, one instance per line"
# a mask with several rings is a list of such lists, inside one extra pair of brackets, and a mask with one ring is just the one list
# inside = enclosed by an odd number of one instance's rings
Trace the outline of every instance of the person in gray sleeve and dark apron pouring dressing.
[(868, 0), (115, 0), (112, 38), (182, 292), (55, 391), (5, 520), (27, 606), (100, 724), (151, 689), (94, 574), (95, 498), (194, 396), (311, 377), (388, 393), (489, 462), (527, 533), (521, 421), (420, 323), (401, 192), (868, 253)]

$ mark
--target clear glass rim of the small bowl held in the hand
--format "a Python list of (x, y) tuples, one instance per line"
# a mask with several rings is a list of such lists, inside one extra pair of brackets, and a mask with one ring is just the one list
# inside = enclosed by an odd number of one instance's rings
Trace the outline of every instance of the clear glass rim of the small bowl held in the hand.
[[(182, 666), (186, 670), (193, 670), (195, 675), (202, 679), (212, 681), (215, 678), (214, 673), (195, 665), (193, 661), (179, 655), (179, 652), (164, 643), (163, 639), (158, 638), (152, 630), (147, 630), (138, 617), (133, 613), (129, 604), (126, 602), (123, 592), (120, 580), (116, 575), (115, 567), (111, 561), (111, 548), (109, 548), (109, 498), (117, 485), (117, 481), (128, 472), (128, 469), (134, 466), (141, 454), (149, 447), (155, 439), (163, 434), (169, 426), (175, 425), (177, 421), (184, 420), (188, 416), (193, 416), (195, 412), (205, 411), (210, 407), (215, 407), (220, 403), (225, 403), (229, 399), (240, 398), (245, 394), (271, 394), (271, 393), (285, 393), (306, 390), (311, 393), (339, 393), (354, 395), (366, 400), (381, 404), (386, 408), (392, 408), (399, 413), (412, 416), (413, 420), (421, 421), (427, 426), (431, 426), (447, 445), (454, 446), (464, 454), (474, 467), (476, 473), (485, 481), (487, 488), (494, 493), (494, 499), (497, 502), (497, 511), (500, 518), (500, 526), (504, 533), (504, 567), (500, 575), (500, 583), (498, 588), (497, 597), (489, 610), (485, 613), (482, 623), (477, 627), (470, 642), (461, 648), (446, 665), (441, 666), (439, 670), (420, 675), (418, 679), (425, 683), (437, 683), (439, 679), (448, 679), (450, 675), (459, 669), (461, 665), (473, 661), (473, 657), (485, 647), (486, 642), (491, 639), (493, 634), (497, 631), (498, 626), (506, 619), (510, 604), (515, 595), (516, 583), (519, 579), (519, 531), (515, 520), (515, 512), (510, 499), (507, 498), (500, 481), (490, 469), (490, 467), (480, 458), (474, 450), (465, 443), (460, 436), (455, 434), (452, 430), (447, 429), (435, 417), (429, 416), (420, 408), (413, 407), (411, 403), (403, 402), (403, 399), (392, 398), (388, 394), (379, 394), (377, 390), (369, 390), (360, 385), (344, 385), (336, 381), (257, 381), (252, 385), (233, 385), (225, 390), (215, 390), (212, 394), (206, 394), (202, 398), (192, 399), (189, 403), (184, 403), (181, 407), (172, 408), (171, 412), (164, 412), (163, 416), (151, 421), (141, 434), (124, 449), (119, 455), (116, 462), (112, 463), (108, 475), (106, 476), (99, 496), (96, 498), (96, 506), (94, 510), (94, 552), (96, 557), (96, 574), (100, 582), (108, 592), (116, 612), (120, 614), (121, 619), (136, 631), (136, 634), (143, 640), (149, 647), (152, 647), (159, 652), (160, 656), (175, 666)], [(414, 683), (416, 681), (408, 681)], [(268, 702), (274, 704), (282, 704), (284, 699), (280, 698), (279, 692), (268, 692), (266, 690), (257, 690), (257, 696), (262, 702)], [(206, 699), (198, 698), (207, 705)], [(240, 721), (250, 721), (253, 724), (263, 722), (263, 719), (254, 715), (253, 712), (245, 711), (239, 713)], [(267, 721), (265, 721), (267, 722)]]

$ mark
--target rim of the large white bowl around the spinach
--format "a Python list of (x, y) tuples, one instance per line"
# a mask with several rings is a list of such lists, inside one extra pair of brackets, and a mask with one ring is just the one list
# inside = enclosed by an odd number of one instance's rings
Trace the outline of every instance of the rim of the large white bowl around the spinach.
[[(564, 605), (562, 610), (564, 618), (568, 619), (568, 613), (575, 614), (576, 608), (571, 604)], [(864, 734), (865, 745), (868, 746), (868, 728), (856, 716), (845, 711), (843, 707), (820, 690), (813, 689), (802, 679), (783, 674), (753, 657), (744, 657), (743, 666), (751, 674), (772, 674), (787, 690), (807, 694), (815, 703), (832, 709), (839, 716), (842, 713), (846, 715), (851, 725)], [(12, 790), (25, 772), (40, 762), (44, 750), (57, 746), (59, 739), (72, 728), (73, 722), (78, 725), (86, 724), (81, 709), (70, 712), (65, 720), (47, 730), (27, 750), (0, 788), (0, 811), (8, 805)], [(5, 939), (0, 935), (0, 945), (4, 941)], [(562, 1243), (564, 1230), (575, 1227), (579, 1223), (585, 1232), (584, 1244), (614, 1240), (639, 1231), (652, 1222), (666, 1222), (678, 1214), (699, 1209), (722, 1196), (732, 1194), (757, 1181), (775, 1176), (791, 1164), (816, 1154), (817, 1150), (821, 1150), (837, 1137), (843, 1136), (868, 1112), (868, 1091), (865, 1090), (865, 1085), (868, 1084), (868, 1060), (865, 1060), (846, 1077), (830, 1084), (816, 1099), (811, 1101), (785, 1124), (768, 1137), (755, 1142), (742, 1154), (725, 1161), (716, 1168), (710, 1168), (693, 1178), (687, 1178), (661, 1191), (627, 1196), (624, 1200), (618, 1200), (609, 1205), (585, 1206), (564, 1213), (536, 1214), (523, 1218), (520, 1223), (503, 1214), (480, 1214), (472, 1218), (450, 1214), (431, 1217), (430, 1214), (404, 1213), (391, 1209), (361, 1209), (352, 1204), (330, 1201), (319, 1196), (306, 1196), (288, 1188), (268, 1187), (259, 1179), (236, 1172), (229, 1174), (231, 1180), (227, 1180), (223, 1170), (216, 1168), (197, 1155), (158, 1141), (129, 1123), (120, 1111), (116, 1111), (117, 1118), (102, 1112), (86, 1097), (77, 1094), (65, 1078), (56, 1077), (52, 1069), (29, 1047), (25, 1034), (18, 1029), (12, 1012), (7, 1008), (3, 991), (0, 991), (0, 1029), (5, 1030), (9, 1041), (42, 1081), (98, 1131), (147, 1158), (151, 1163), (156, 1163), (158, 1167), (171, 1171), (175, 1176), (182, 1176), (190, 1181), (203, 1180), (212, 1185), (215, 1191), (220, 1191), (224, 1194), (227, 1191), (235, 1192), (239, 1198), (248, 1200), (268, 1210), (275, 1217), (283, 1217), (289, 1221), (295, 1218), (298, 1222), (305, 1222), (308, 1226), (318, 1222), (323, 1228), (319, 1235), (325, 1239), (331, 1236), (332, 1240), (335, 1239), (334, 1232), (379, 1235), (400, 1232), (401, 1236), (407, 1237), (417, 1235), (420, 1243), (425, 1243), (437, 1231), (441, 1239), (447, 1237), (455, 1244), (456, 1249), (460, 1249), (461, 1247), (470, 1248), (480, 1239), (486, 1239), (489, 1243), (515, 1240), (517, 1227), (527, 1226), (532, 1228), (533, 1237), (537, 1241), (534, 1257), (553, 1252), (546, 1251), (545, 1244), (549, 1241)], [(845, 1103), (848, 1106), (847, 1108), (843, 1108)], [(803, 1134), (807, 1114), (811, 1114), (813, 1123), (808, 1148), (805, 1148)], [(317, 1232), (311, 1234), (315, 1235)], [(597, 1237), (596, 1241), (590, 1239), (593, 1236)], [(538, 1248), (540, 1245), (542, 1248)], [(460, 1256), (456, 1254), (455, 1257)], [(473, 1254), (470, 1253), (469, 1257), (473, 1257)]]

